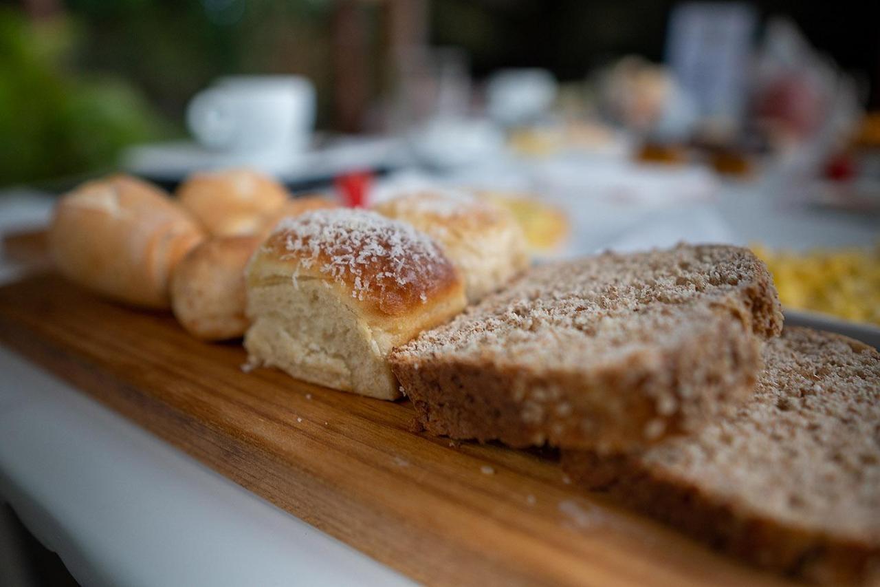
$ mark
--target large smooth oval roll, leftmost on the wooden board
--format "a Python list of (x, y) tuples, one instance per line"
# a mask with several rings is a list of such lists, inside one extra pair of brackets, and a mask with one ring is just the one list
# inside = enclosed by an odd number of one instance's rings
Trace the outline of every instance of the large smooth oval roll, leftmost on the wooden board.
[(86, 182), (62, 197), (48, 234), (63, 275), (147, 308), (168, 308), (171, 272), (203, 238), (163, 190), (127, 175)]

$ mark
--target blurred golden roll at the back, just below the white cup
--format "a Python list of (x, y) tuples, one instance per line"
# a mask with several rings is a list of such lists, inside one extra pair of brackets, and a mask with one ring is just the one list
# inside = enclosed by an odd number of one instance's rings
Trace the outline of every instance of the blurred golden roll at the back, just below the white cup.
[(256, 234), (265, 215), (288, 200), (282, 184), (248, 169), (190, 175), (180, 184), (177, 196), (214, 236)]

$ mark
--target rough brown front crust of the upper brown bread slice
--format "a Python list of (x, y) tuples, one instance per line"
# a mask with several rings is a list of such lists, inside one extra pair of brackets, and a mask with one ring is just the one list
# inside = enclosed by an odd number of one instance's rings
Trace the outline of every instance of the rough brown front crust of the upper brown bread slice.
[(392, 365), (431, 434), (513, 447), (633, 450), (693, 431), (752, 389), (759, 342), (723, 310), (695, 311), (693, 320), (698, 327), (680, 345), (650, 358), (634, 353), (589, 374), (514, 363), (488, 368), (476, 357), (407, 363), (396, 353)]

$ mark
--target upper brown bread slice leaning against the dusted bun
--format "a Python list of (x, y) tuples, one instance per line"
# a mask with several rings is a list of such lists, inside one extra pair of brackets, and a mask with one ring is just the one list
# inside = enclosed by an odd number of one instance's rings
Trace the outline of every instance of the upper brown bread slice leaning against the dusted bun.
[(781, 319), (749, 250), (679, 245), (532, 269), (391, 361), (433, 434), (631, 450), (738, 404)]

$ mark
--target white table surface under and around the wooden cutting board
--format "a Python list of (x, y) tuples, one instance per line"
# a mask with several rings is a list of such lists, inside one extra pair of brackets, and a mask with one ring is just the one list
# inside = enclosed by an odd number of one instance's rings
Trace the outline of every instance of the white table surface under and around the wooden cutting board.
[[(0, 233), (45, 223), (51, 201), (0, 194)], [(570, 254), (681, 238), (803, 248), (877, 237), (874, 219), (780, 207), (744, 183), (649, 214), (572, 205), (592, 228)], [(0, 279), (17, 274), (0, 265)], [(0, 495), (84, 584), (410, 583), (2, 348)]]

